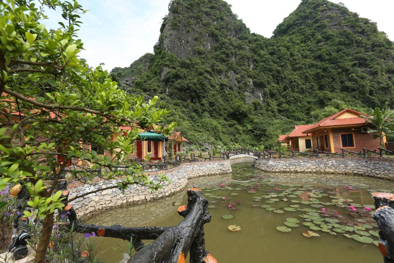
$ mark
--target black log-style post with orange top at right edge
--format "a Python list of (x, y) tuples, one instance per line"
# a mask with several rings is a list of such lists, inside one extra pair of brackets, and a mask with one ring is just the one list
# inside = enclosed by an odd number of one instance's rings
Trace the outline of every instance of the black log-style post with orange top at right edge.
[(385, 263), (394, 263), (394, 195), (392, 193), (373, 193), (375, 212), (372, 217), (379, 227), (378, 248)]

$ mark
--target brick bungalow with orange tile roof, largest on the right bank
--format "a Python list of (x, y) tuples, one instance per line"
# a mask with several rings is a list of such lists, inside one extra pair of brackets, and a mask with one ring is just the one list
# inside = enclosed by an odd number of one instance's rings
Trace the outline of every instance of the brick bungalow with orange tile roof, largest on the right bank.
[[(367, 133), (369, 124), (360, 115), (369, 116), (344, 109), (309, 125), (301, 133), (312, 137), (312, 146), (325, 152), (341, 152), (341, 148), (359, 152), (362, 147), (375, 150), (379, 147), (379, 138), (374, 139), (374, 133)], [(386, 137), (383, 138), (385, 143)]]

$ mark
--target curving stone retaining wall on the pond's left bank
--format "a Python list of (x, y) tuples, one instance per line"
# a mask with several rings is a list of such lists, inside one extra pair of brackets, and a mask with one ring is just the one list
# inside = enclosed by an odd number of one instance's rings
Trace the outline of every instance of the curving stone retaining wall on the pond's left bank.
[[(148, 173), (152, 178), (160, 171)], [(183, 163), (178, 167), (165, 171), (167, 178), (171, 179), (171, 184), (165, 184), (162, 189), (151, 193), (150, 190), (143, 186), (132, 185), (125, 191), (125, 194), (117, 189), (107, 189), (101, 192), (92, 193), (70, 202), (79, 217), (85, 217), (89, 213), (102, 209), (110, 209), (113, 207), (142, 203), (152, 199), (159, 199), (164, 196), (183, 190), (188, 184), (189, 178), (200, 177), (204, 175), (218, 175), (231, 173), (231, 165), (229, 160), (215, 162), (199, 162), (199, 163)], [(69, 184), (69, 198), (96, 189), (113, 186), (116, 180), (99, 181), (95, 185), (80, 185), (78, 183)]]

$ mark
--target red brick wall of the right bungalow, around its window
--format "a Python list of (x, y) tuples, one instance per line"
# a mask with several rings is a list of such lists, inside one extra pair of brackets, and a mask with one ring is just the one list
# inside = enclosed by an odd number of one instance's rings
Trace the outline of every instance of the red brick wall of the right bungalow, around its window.
[(341, 133), (353, 133), (355, 147), (345, 147), (344, 149), (346, 150), (359, 152), (362, 147), (369, 150), (375, 150), (379, 147), (379, 138), (374, 139), (373, 133), (361, 132), (360, 128), (355, 128), (355, 130), (351, 130), (351, 128), (337, 128), (333, 129), (334, 152), (341, 152)]

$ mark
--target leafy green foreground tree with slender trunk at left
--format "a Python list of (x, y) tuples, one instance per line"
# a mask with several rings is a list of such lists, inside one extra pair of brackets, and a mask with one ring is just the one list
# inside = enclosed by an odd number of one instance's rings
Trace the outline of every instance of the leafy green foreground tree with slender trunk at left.
[[(46, 8), (61, 9), (58, 30), (42, 23)], [(108, 167), (104, 179), (122, 177), (114, 186), (121, 190), (131, 184), (155, 190), (167, 180), (160, 176), (152, 181), (126, 156), (134, 150), (139, 128), (159, 124), (168, 111), (156, 107), (157, 96), (145, 103), (78, 57), (83, 43), (76, 28), (83, 13), (76, 1), (0, 2), (0, 190), (20, 183), (31, 195), (28, 205), (36, 212), (25, 211), (24, 216), (43, 220), (36, 263), (45, 259), (54, 212), (64, 207), (56, 185), (67, 163), (75, 169), (81, 160), (91, 169)], [(176, 125), (161, 125), (157, 131), (169, 134)], [(112, 140), (121, 126), (134, 129)], [(114, 164), (128, 168), (117, 171), (111, 168)], [(92, 174), (87, 176), (93, 180)]]

